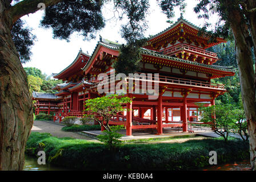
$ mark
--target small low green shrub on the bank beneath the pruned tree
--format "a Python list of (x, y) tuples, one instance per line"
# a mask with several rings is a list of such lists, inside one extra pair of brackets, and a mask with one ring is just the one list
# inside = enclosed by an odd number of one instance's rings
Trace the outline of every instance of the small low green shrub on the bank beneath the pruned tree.
[(122, 129), (122, 126), (111, 126), (110, 131), (104, 130), (102, 135), (98, 135), (97, 138), (106, 144), (110, 151), (115, 152), (120, 146), (122, 141), (120, 140), (123, 135), (119, 134), (118, 131)]

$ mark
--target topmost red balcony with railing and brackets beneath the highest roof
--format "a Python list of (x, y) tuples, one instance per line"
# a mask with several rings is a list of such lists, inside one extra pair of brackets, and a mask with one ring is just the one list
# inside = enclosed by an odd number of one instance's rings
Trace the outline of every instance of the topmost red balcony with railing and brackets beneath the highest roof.
[(177, 44), (176, 46), (166, 48), (163, 50), (163, 54), (203, 64), (213, 64), (218, 60), (217, 53), (187, 44)]

